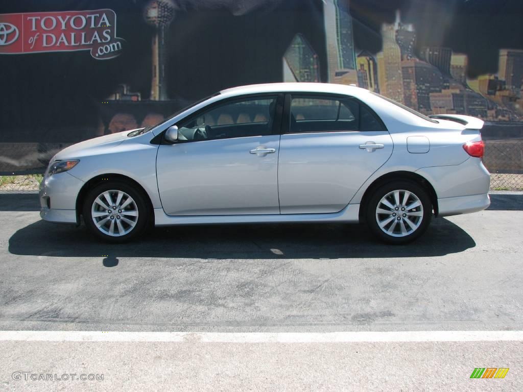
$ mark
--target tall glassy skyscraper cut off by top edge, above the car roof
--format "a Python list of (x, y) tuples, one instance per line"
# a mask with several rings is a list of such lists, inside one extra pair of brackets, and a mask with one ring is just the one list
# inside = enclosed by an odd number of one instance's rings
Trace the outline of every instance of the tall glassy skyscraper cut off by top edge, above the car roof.
[(323, 18), (328, 81), (333, 82), (339, 70), (356, 71), (353, 19), (349, 13), (349, 1), (323, 0)]

